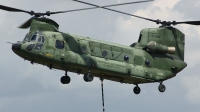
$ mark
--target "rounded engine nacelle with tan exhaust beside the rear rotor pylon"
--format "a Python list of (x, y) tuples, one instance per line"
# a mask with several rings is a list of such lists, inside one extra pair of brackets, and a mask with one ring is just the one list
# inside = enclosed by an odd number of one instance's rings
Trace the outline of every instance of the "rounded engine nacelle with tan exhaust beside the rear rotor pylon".
[(157, 52), (157, 53), (169, 53), (169, 54), (174, 54), (176, 49), (175, 47), (167, 47), (165, 45), (156, 43), (155, 41), (151, 41), (147, 44), (147, 48), (152, 51), (152, 52)]

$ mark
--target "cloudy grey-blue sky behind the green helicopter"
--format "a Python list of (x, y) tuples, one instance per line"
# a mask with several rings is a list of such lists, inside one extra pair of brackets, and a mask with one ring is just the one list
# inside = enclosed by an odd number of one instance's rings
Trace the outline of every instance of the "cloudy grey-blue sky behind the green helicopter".
[[(131, 1), (135, 0), (87, 0), (98, 5)], [(71, 0), (0, 0), (0, 4), (35, 12), (91, 7)], [(200, 20), (199, 0), (155, 0), (113, 9), (166, 21)], [(62, 85), (60, 77), (64, 75), (64, 71), (32, 65), (12, 52), (11, 45), (6, 42), (23, 40), (29, 29), (22, 30), (17, 27), (29, 18), (25, 13), (0, 10), (0, 112), (101, 112), (101, 85), (98, 78), (86, 83), (82, 75), (69, 73), (71, 83)], [(136, 42), (143, 28), (159, 26), (103, 9), (52, 15), (49, 18), (60, 25), (62, 32), (123, 45)], [(159, 83), (139, 85), (141, 93), (135, 95), (134, 85), (105, 80), (106, 112), (200, 110), (200, 26), (175, 27), (186, 35), (186, 69), (176, 77), (164, 81), (164, 93), (158, 91)]]

